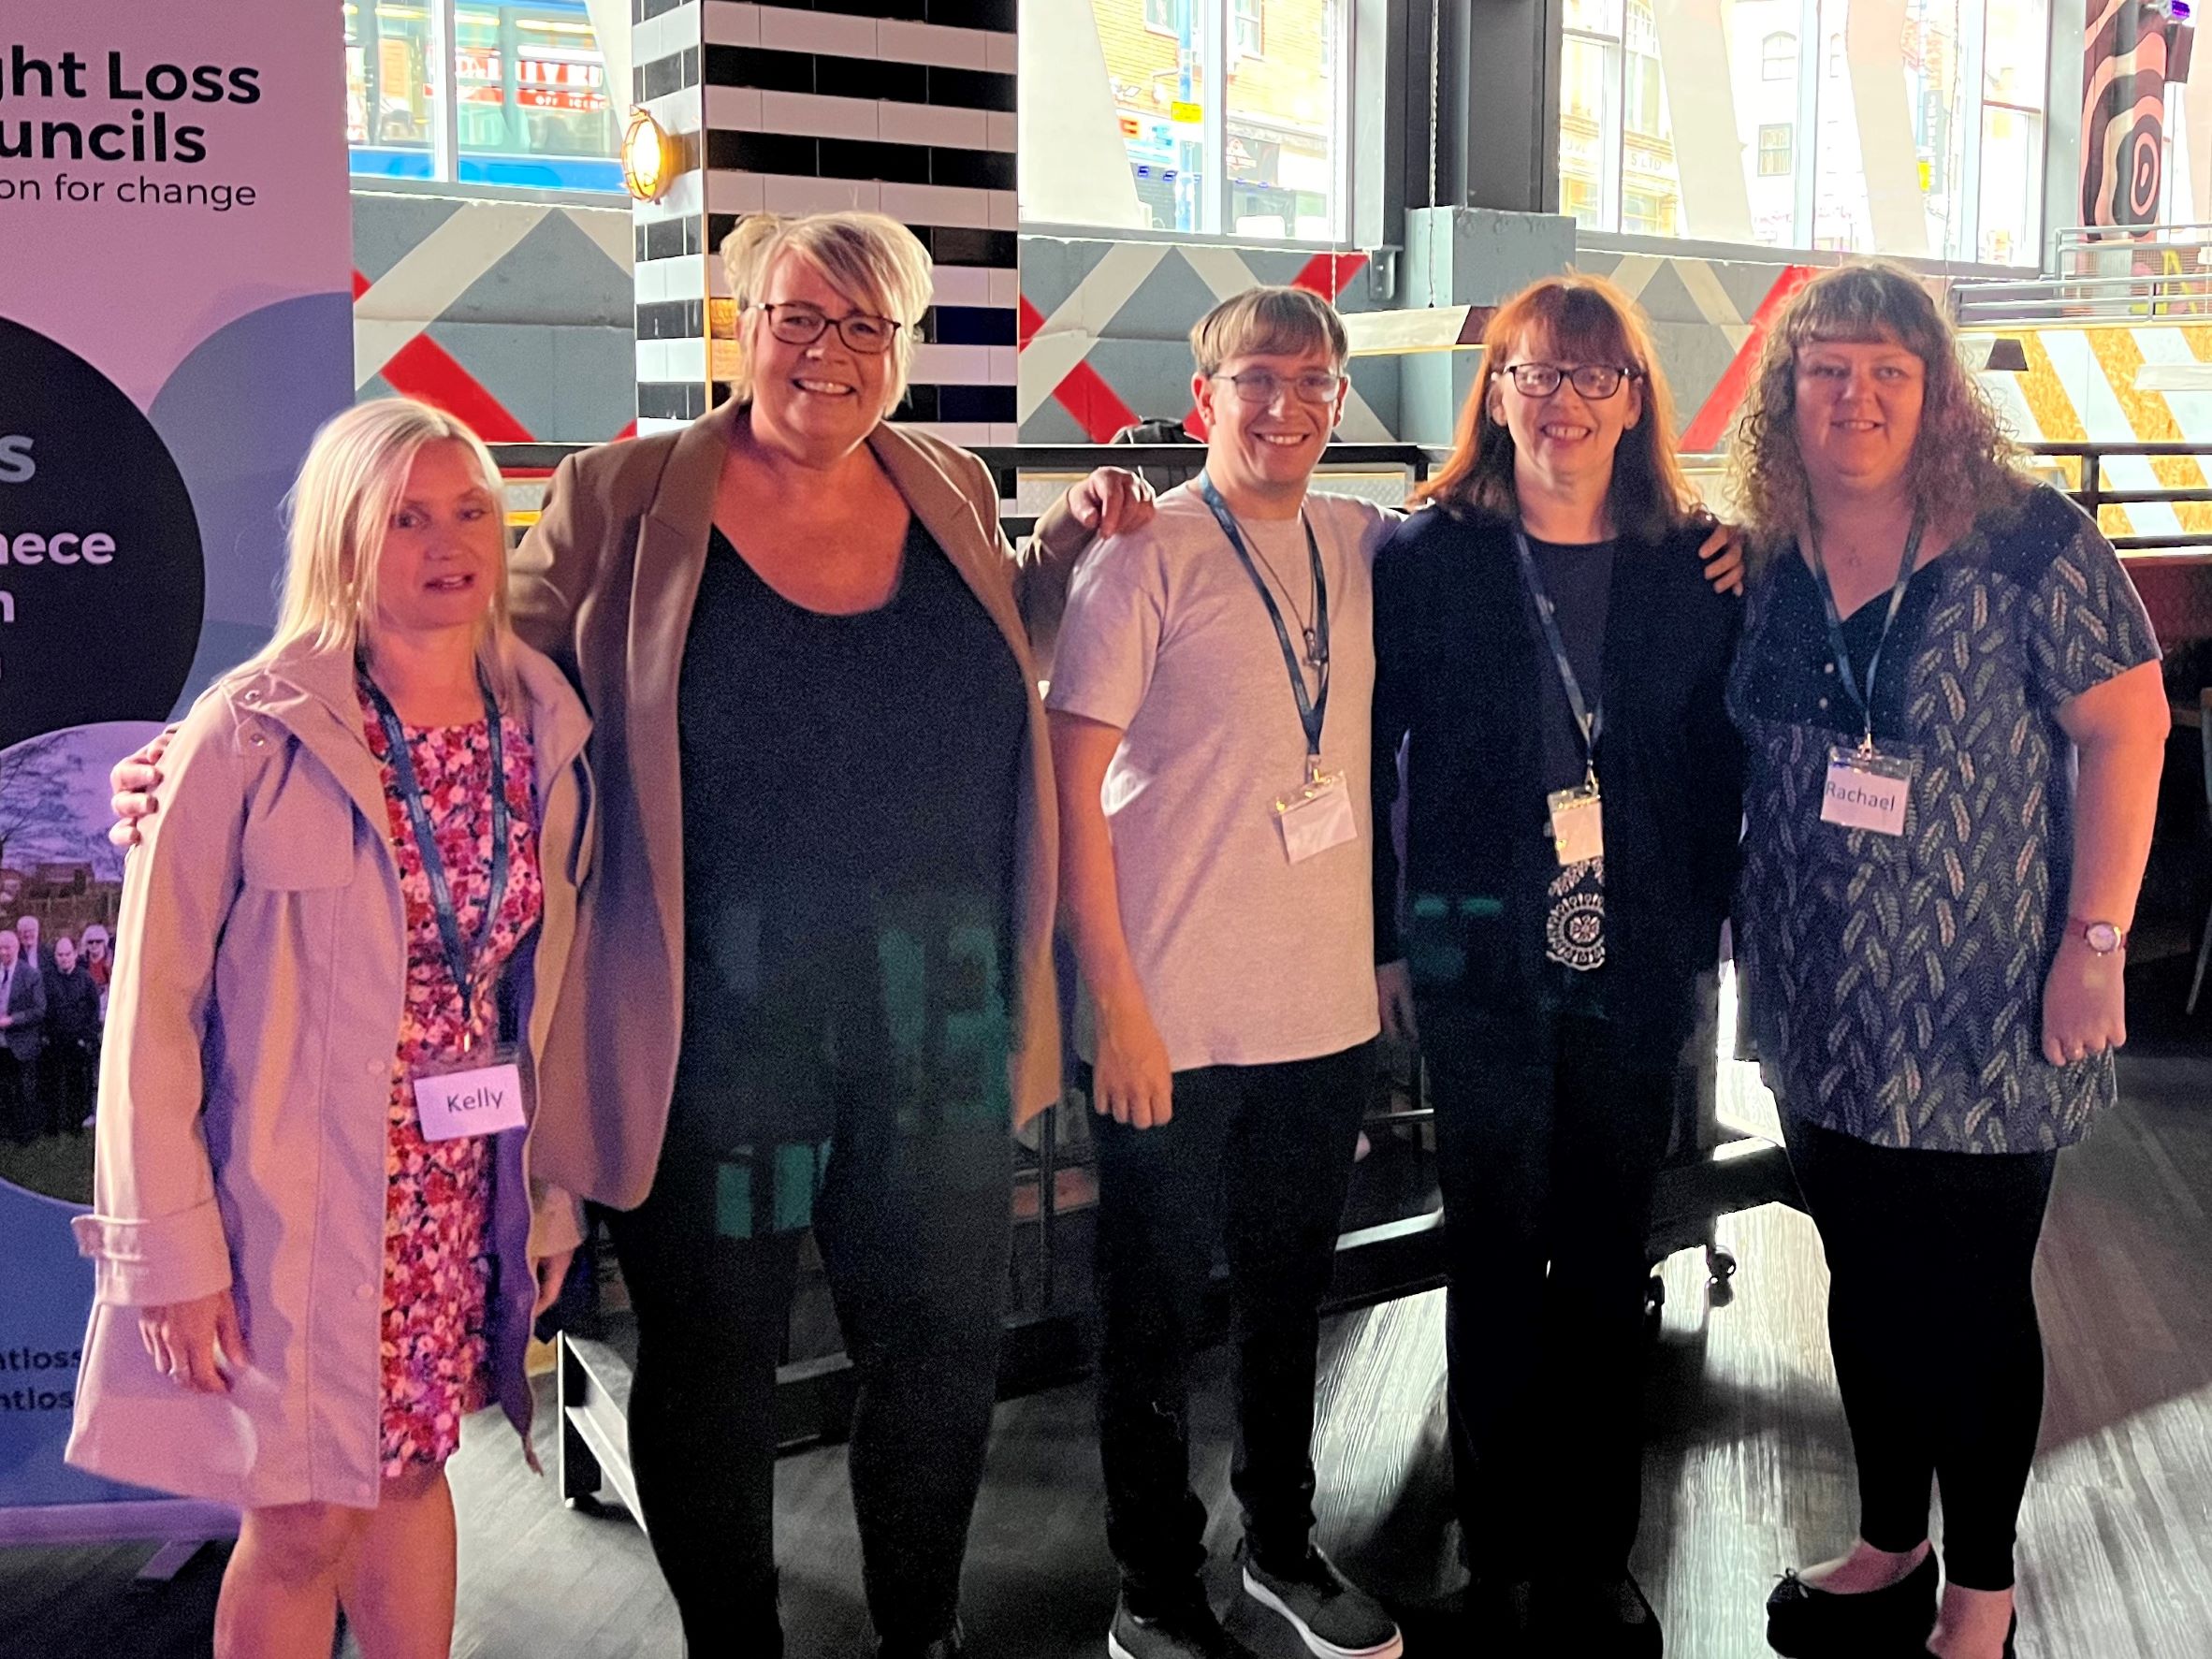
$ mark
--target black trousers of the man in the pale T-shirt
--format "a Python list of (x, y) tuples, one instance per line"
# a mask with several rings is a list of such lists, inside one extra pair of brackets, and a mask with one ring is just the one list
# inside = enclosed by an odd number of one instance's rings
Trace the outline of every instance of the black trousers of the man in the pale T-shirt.
[(1305, 1559), (1321, 1298), (1371, 1079), (1363, 1042), (1321, 1060), (1179, 1071), (1175, 1115), (1157, 1128), (1093, 1119), (1106, 1542), (1137, 1610), (1190, 1595), (1206, 1566), (1188, 1407), (1217, 1241), (1230, 1261), (1230, 1484), (1245, 1542), (1261, 1562)]

